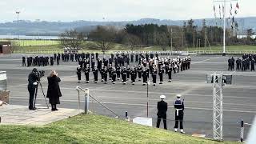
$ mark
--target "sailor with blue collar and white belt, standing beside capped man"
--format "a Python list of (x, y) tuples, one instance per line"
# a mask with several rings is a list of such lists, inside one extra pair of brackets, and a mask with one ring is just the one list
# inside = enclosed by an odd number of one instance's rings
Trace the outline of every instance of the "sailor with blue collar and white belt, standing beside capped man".
[(184, 102), (181, 100), (181, 95), (177, 95), (177, 100), (174, 102), (174, 109), (175, 109), (175, 126), (174, 131), (177, 132), (178, 130), (178, 122), (180, 123), (180, 130), (181, 133), (185, 133), (183, 131), (183, 116), (184, 116)]

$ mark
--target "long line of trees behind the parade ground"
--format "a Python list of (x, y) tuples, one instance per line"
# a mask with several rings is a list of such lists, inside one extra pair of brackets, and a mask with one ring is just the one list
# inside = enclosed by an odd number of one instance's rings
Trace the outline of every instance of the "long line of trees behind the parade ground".
[[(238, 23), (233, 29), (226, 29), (227, 45), (256, 45), (251, 38), (252, 29), (246, 30), (246, 38), (237, 38)], [(60, 34), (61, 44), (65, 47), (79, 48), (84, 41), (92, 41), (91, 49), (103, 52), (113, 48), (114, 43), (125, 45), (129, 50), (136, 50), (144, 46), (160, 46), (162, 50), (183, 50), (185, 48), (198, 48), (209, 46), (222, 46), (223, 29), (218, 26), (202, 27), (194, 25), (194, 20), (183, 22), (183, 26), (158, 26), (156, 24), (133, 25), (127, 24), (118, 29), (115, 26), (97, 26), (89, 34), (77, 30), (66, 30)]]

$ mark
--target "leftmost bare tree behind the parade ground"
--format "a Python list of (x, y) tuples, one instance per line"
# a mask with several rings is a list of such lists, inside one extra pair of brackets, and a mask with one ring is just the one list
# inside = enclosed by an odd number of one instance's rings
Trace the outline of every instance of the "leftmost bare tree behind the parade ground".
[(60, 43), (64, 47), (72, 49), (80, 49), (82, 42), (85, 41), (85, 35), (78, 33), (76, 30), (66, 30), (64, 33), (59, 35)]

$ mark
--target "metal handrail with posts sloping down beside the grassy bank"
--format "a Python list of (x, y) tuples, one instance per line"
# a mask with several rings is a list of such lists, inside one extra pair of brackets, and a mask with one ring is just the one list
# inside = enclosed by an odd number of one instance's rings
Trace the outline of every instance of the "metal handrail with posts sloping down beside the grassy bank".
[(118, 118), (118, 114), (115, 114), (113, 110), (110, 110), (107, 106), (105, 106), (102, 102), (98, 101), (98, 99), (94, 98), (92, 95), (89, 94), (89, 89), (82, 89), (81, 87), (77, 86), (76, 90), (78, 90), (78, 110), (81, 108), (81, 98), (80, 98), (80, 91), (82, 91), (85, 94), (85, 113), (88, 114), (88, 111), (90, 109), (89, 103), (90, 98), (93, 98), (95, 102), (103, 106), (106, 110), (110, 111), (110, 113), (114, 114), (115, 118)]

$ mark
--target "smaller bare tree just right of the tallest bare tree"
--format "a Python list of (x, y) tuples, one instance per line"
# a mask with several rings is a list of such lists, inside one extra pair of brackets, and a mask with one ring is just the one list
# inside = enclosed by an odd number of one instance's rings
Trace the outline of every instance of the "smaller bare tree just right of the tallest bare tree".
[(138, 36), (134, 34), (126, 34), (126, 36), (123, 38), (123, 44), (128, 46), (130, 50), (134, 50), (136, 46), (140, 46), (142, 44), (142, 41)]

